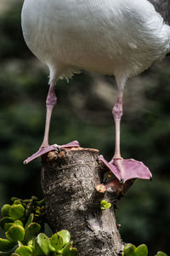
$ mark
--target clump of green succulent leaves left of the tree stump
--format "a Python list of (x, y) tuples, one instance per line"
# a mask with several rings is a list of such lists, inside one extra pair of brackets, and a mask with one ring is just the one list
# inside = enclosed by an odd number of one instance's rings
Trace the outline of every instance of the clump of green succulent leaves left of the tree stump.
[(3, 205), (0, 225), (7, 239), (0, 238), (0, 254), (11, 256), (77, 256), (68, 230), (60, 230), (48, 238), (42, 233), (44, 201), (32, 196), (30, 200), (11, 199)]

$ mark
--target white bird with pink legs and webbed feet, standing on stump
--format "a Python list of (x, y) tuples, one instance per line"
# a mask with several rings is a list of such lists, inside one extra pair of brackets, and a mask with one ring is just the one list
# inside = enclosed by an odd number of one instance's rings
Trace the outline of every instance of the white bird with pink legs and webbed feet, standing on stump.
[[(122, 182), (150, 178), (143, 163), (123, 160), (120, 122), (123, 88), (128, 78), (142, 73), (170, 52), (168, 0), (25, 0), (22, 30), (26, 44), (49, 69), (47, 116), (42, 145), (25, 163), (45, 154), (58, 79), (70, 79), (82, 69), (115, 75), (117, 99), (112, 109), (116, 123), (115, 154), (111, 162), (100, 156)], [(61, 147), (78, 147), (77, 142)]]

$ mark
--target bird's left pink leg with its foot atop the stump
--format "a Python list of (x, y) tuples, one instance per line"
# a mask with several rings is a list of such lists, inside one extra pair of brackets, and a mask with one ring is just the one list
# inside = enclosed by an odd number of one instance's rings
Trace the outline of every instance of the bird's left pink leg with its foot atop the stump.
[(35, 160), (37, 157), (41, 156), (42, 154), (46, 154), (51, 150), (55, 150), (57, 148), (72, 148), (72, 147), (79, 147), (79, 143), (77, 141), (65, 144), (65, 145), (49, 145), (48, 144), (48, 134), (49, 134), (49, 126), (50, 126), (50, 121), (51, 121), (51, 114), (53, 112), (54, 105), (57, 103), (57, 97), (55, 96), (55, 91), (54, 91), (55, 83), (52, 82), (49, 86), (48, 90), (48, 96), (47, 96), (47, 101), (46, 101), (46, 124), (45, 124), (45, 132), (44, 132), (44, 137), (42, 141), (42, 145), (39, 148), (39, 150), (35, 153), (32, 154), (30, 157), (28, 157), (25, 161), (24, 164), (28, 164), (32, 160)]

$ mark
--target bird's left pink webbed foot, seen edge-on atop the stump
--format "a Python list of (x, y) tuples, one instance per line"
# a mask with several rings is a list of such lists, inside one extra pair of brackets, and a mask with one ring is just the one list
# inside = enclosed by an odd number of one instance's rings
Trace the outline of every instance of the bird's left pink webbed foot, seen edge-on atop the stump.
[(57, 148), (79, 148), (80, 145), (77, 141), (73, 141), (71, 143), (65, 144), (65, 145), (50, 145), (48, 147), (40, 147), (39, 150), (35, 153), (32, 154), (30, 157), (28, 157), (25, 161), (24, 164), (28, 164), (32, 160), (37, 159), (37, 157), (41, 156), (42, 154), (46, 154), (49, 151), (56, 150)]

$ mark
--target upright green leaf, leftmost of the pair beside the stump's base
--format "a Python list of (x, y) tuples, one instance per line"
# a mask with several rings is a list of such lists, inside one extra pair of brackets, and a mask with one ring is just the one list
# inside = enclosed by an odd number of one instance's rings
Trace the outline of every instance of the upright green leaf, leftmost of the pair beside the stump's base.
[(51, 246), (49, 238), (45, 234), (40, 233), (37, 236), (37, 244), (45, 255), (48, 255), (50, 252), (55, 252), (55, 248)]

